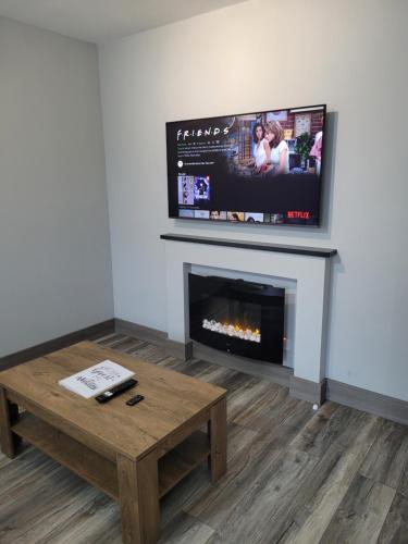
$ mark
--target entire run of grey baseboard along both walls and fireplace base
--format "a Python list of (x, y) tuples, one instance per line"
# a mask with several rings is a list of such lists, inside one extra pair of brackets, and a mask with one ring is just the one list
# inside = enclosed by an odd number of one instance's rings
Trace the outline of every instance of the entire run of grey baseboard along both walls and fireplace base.
[(0, 358), (0, 370), (5, 370), (7, 368), (35, 359), (36, 357), (41, 357), (55, 349), (75, 344), (76, 342), (91, 339), (92, 335), (98, 336), (114, 331), (137, 336), (140, 339), (162, 346), (169, 355), (177, 359), (188, 360), (191, 357), (205, 359), (209, 362), (237, 370), (238, 372), (246, 372), (256, 378), (284, 385), (289, 387), (292, 396), (318, 404), (319, 406), (323, 404), (324, 400), (332, 400), (408, 425), (407, 400), (388, 397), (380, 393), (374, 393), (331, 379), (322, 380), (320, 383), (304, 380), (295, 376), (293, 369), (288, 367), (232, 356), (219, 351), (218, 349), (212, 349), (203, 344), (199, 344), (198, 342), (188, 342), (186, 344), (174, 342), (168, 338), (168, 333), (164, 331), (138, 325), (123, 319), (103, 321), (102, 323), (45, 342), (38, 346), (33, 346), (16, 354), (2, 357)]

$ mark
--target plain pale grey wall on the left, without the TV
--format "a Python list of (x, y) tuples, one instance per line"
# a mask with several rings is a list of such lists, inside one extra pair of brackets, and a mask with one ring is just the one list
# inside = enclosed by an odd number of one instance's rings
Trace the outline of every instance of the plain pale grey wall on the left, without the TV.
[(0, 356), (113, 316), (95, 46), (0, 18)]

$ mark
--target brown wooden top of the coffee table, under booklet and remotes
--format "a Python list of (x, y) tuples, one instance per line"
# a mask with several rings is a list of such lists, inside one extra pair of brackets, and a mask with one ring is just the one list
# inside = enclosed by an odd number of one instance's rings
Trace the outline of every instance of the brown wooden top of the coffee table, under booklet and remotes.
[[(135, 372), (138, 385), (107, 404), (83, 398), (58, 381), (104, 359)], [(226, 395), (226, 391), (180, 372), (144, 362), (133, 356), (82, 342), (39, 359), (0, 372), (0, 385), (36, 407), (74, 437), (89, 437), (101, 447), (138, 459), (188, 428)], [(145, 400), (125, 401), (136, 394)], [(33, 409), (34, 411), (34, 409)], [(45, 417), (45, 419), (46, 419)], [(66, 431), (67, 429), (67, 431)]]

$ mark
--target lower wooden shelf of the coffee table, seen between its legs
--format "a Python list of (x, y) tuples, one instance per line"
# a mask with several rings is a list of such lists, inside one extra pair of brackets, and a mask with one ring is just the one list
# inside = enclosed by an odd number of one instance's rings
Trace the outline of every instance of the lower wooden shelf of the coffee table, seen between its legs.
[[(32, 413), (24, 412), (12, 432), (119, 500), (116, 463)], [(209, 437), (196, 431), (158, 461), (159, 497), (165, 495), (210, 455)]]

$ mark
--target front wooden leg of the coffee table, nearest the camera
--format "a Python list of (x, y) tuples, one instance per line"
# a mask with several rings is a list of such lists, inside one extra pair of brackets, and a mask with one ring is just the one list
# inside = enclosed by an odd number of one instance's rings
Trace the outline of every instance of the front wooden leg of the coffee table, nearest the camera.
[(118, 456), (119, 495), (124, 544), (152, 544), (159, 537), (158, 462)]

